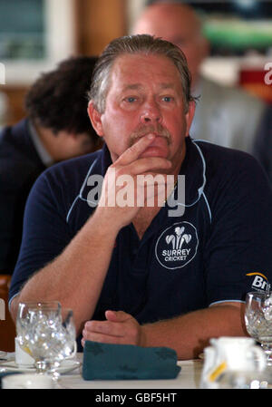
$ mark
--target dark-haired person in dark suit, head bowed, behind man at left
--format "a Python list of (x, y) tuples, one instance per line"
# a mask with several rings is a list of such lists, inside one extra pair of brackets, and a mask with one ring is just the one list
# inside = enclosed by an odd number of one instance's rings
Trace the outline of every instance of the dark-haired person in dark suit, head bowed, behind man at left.
[(26, 117), (0, 132), (0, 273), (12, 274), (24, 205), (35, 179), (53, 163), (99, 148), (87, 114), (95, 57), (67, 59), (34, 82)]

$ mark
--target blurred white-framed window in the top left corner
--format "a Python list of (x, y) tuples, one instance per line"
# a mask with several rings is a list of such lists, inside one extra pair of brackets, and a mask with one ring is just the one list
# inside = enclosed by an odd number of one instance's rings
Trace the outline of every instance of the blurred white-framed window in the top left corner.
[(29, 84), (73, 55), (75, 0), (0, 0), (6, 84)]

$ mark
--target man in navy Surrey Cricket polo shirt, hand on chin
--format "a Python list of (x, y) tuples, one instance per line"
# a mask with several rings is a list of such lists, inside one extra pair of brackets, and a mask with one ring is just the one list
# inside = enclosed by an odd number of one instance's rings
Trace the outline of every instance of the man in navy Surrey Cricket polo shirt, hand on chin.
[(19, 301), (58, 299), (83, 344), (166, 345), (180, 359), (210, 337), (246, 334), (245, 295), (272, 279), (272, 192), (247, 153), (189, 138), (189, 88), (175, 45), (135, 35), (104, 50), (89, 115), (105, 145), (36, 181), (14, 317)]

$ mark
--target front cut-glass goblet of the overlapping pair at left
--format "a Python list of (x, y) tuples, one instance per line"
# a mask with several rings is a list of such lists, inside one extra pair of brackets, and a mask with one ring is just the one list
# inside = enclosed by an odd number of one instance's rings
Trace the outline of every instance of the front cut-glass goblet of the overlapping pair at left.
[(38, 373), (52, 373), (58, 379), (57, 368), (64, 359), (76, 353), (73, 310), (32, 308), (28, 325), (27, 344)]

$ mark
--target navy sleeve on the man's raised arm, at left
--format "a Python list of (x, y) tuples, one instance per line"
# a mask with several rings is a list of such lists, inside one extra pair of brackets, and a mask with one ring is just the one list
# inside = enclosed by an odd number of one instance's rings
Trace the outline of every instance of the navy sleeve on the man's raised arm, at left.
[(45, 171), (34, 183), (24, 211), (23, 238), (12, 276), (9, 300), (27, 279), (57, 257), (71, 240), (66, 223), (67, 200), (61, 182)]

